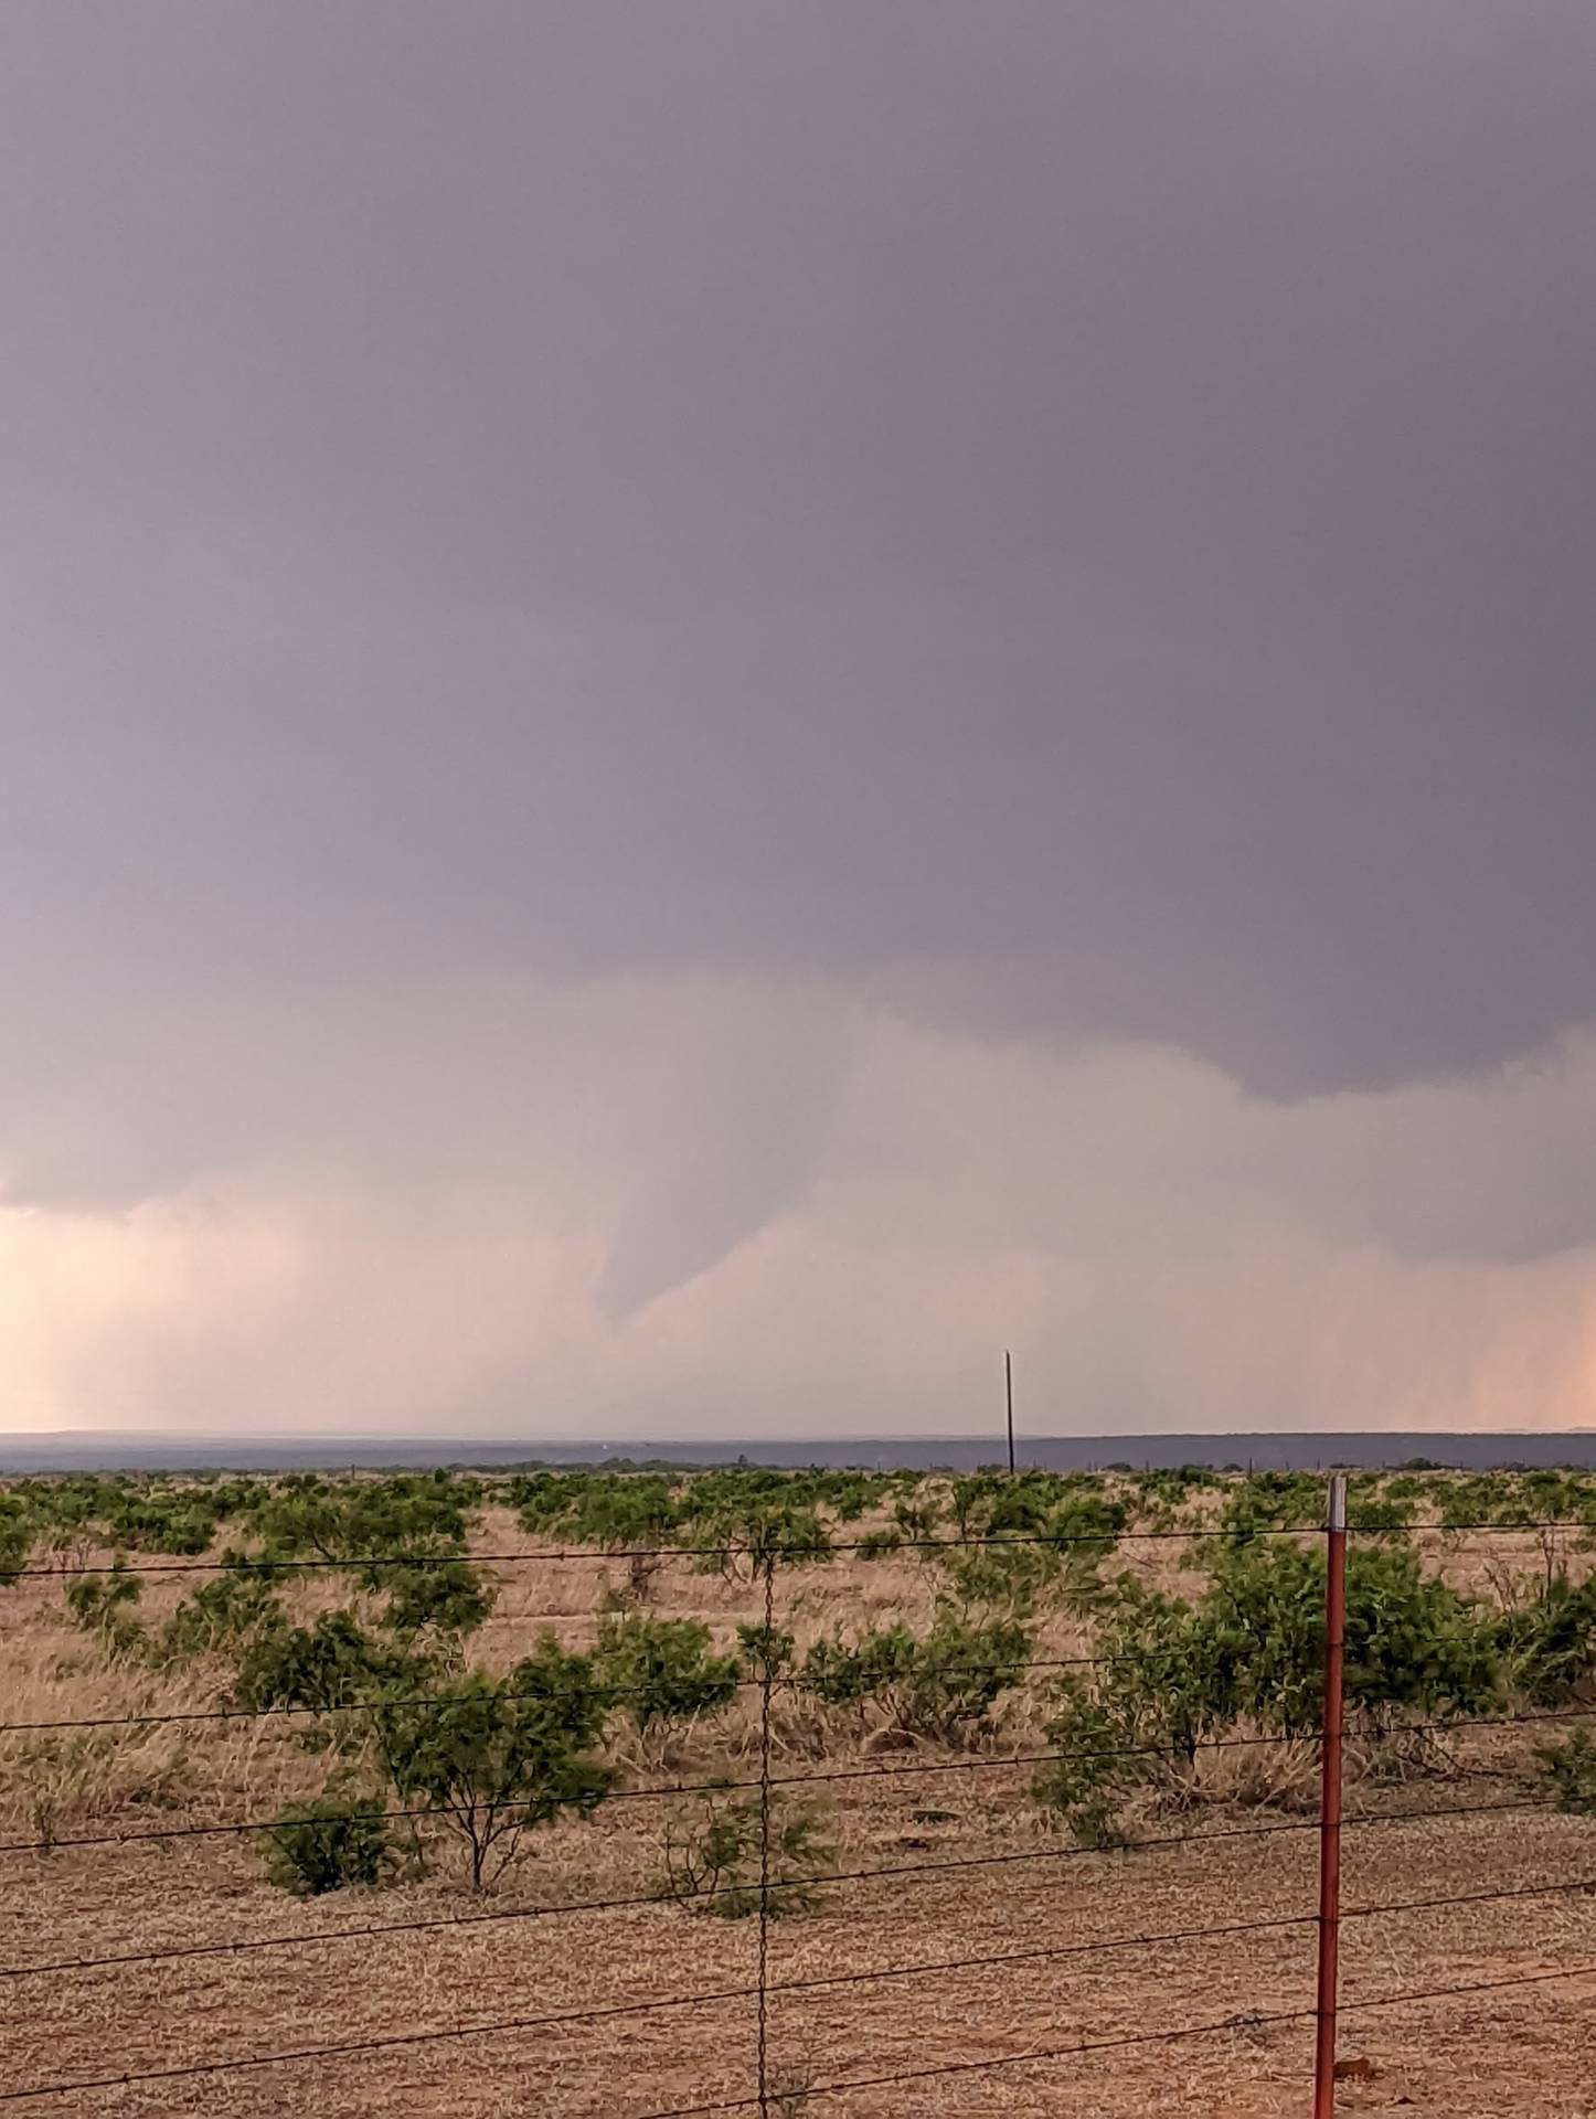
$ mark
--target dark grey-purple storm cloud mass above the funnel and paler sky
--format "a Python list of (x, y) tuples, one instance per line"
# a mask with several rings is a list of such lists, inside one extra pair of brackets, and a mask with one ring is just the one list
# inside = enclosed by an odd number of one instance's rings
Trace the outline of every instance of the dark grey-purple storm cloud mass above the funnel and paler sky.
[(1588, 6), (0, 38), (11, 1081), (458, 964), (1287, 1096), (1596, 1011)]

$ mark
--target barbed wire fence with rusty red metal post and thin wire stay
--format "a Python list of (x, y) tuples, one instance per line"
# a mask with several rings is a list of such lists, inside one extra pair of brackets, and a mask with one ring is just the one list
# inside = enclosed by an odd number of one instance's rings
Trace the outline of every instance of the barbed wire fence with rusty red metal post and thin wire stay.
[[(1588, 1521), (1473, 1521), (1473, 1524), (1450, 1524), (1446, 1532), (1456, 1534), (1477, 1534), (1477, 1536), (1545, 1536), (1551, 1532), (1585, 1532), (1592, 1526)], [(663, 1996), (640, 1996), (632, 2000), (613, 2000), (583, 2009), (545, 2009), (534, 2013), (515, 2013), (481, 2019), (464, 2019), (449, 2026), (430, 2026), (403, 2032), (382, 2032), (356, 2038), (333, 2038), (333, 2041), (309, 2041), (295, 2045), (280, 2045), (267, 2051), (248, 2053), (216, 2053), (201, 2060), (184, 2060), (170, 2066), (136, 2066), (123, 2068), (119, 2072), (102, 2075), (72, 2075), (61, 2079), (34, 2079), (34, 2081), (4, 2081), (0, 2083), (0, 2106), (28, 2106), (36, 2104), (42, 2111), (70, 2111), (74, 2108), (70, 2100), (83, 2100), (89, 2096), (102, 2096), (123, 2089), (157, 2089), (159, 2085), (214, 2079), (225, 2081), (229, 2077), (259, 2075), (273, 2068), (312, 2068), (318, 2062), (352, 2060), (358, 2055), (375, 2053), (403, 2053), (420, 2051), (449, 2045), (468, 2045), (471, 2041), (513, 2036), (513, 2038), (534, 2038), (538, 2032), (566, 2032), (581, 2026), (615, 2026), (640, 2017), (657, 2017), (670, 2013), (691, 2013), (714, 2007), (746, 2007), (748, 2009), (748, 2081), (746, 2094), (738, 2096), (716, 2096), (699, 2102), (676, 2102), (668, 2106), (657, 2106), (651, 2111), (623, 2113), (613, 2106), (615, 2119), (695, 2119), (695, 2115), (708, 2113), (759, 2113), (761, 2119), (778, 2115), (784, 2119), (786, 2113), (803, 2111), (810, 2113), (822, 2104), (833, 2108), (846, 2108), (846, 2100), (854, 2091), (880, 2091), (903, 2087), (905, 2094), (914, 2085), (930, 2085), (935, 2081), (962, 2079), (962, 2077), (994, 2077), (1005, 2070), (1017, 2070), (1026, 2066), (1041, 2064), (1062, 2064), (1070, 2060), (1087, 2060), (1092, 2055), (1125, 2053), (1138, 2047), (1168, 2047), (1181, 2041), (1202, 2041), (1234, 2032), (1238, 2024), (1246, 2024), (1251, 2030), (1259, 2028), (1284, 2028), (1297, 2026), (1301, 2030), (1312, 2028), (1314, 2032), (1314, 2068), (1312, 2068), (1312, 2089), (1304, 2083), (1304, 2111), (1310, 2108), (1312, 2098), (1314, 2119), (1331, 2119), (1335, 2111), (1335, 2060), (1337, 2060), (1337, 2028), (1340, 2019), (1346, 2015), (1371, 2015), (1388, 2009), (1401, 2009), (1412, 2005), (1443, 2002), (1443, 2000), (1471, 2000), (1475, 1996), (1488, 1996), (1499, 1992), (1522, 1992), (1556, 1983), (1575, 1983), (1596, 1977), (1596, 1952), (1592, 1960), (1558, 1964), (1556, 1969), (1543, 1969), (1532, 1973), (1511, 1973), (1490, 1979), (1467, 1979), (1458, 1983), (1441, 1986), (1409, 1986), (1393, 1992), (1356, 1994), (1350, 2002), (1340, 1996), (1340, 1937), (1342, 1930), (1356, 1922), (1378, 1922), (1397, 1918), (1403, 1913), (1439, 1913), (1446, 1909), (1469, 1909), (1484, 1907), (1501, 1901), (1535, 1901), (1535, 1899), (1566, 1899), (1596, 1890), (1596, 1848), (1592, 1850), (1592, 1873), (1558, 1877), (1554, 1882), (1537, 1882), (1524, 1886), (1490, 1888), (1490, 1890), (1465, 1890), (1465, 1892), (1439, 1892), (1424, 1897), (1384, 1897), (1369, 1899), (1361, 1903), (1342, 1903), (1342, 1841), (1350, 1831), (1371, 1831), (1380, 1827), (1393, 1827), (1403, 1822), (1429, 1822), (1448, 1818), (1479, 1818), (1479, 1816), (1503, 1816), (1511, 1812), (1547, 1812), (1551, 1801), (1545, 1797), (1507, 1797), (1492, 1801), (1469, 1801), (1450, 1805), (1420, 1805), (1420, 1808), (1397, 1808), (1397, 1810), (1361, 1810), (1344, 1814), (1342, 1808), (1342, 1782), (1344, 1782), (1344, 1646), (1346, 1646), (1346, 1549), (1348, 1536), (1356, 1536), (1359, 1526), (1348, 1526), (1346, 1519), (1346, 1481), (1342, 1477), (1331, 1479), (1329, 1485), (1329, 1507), (1323, 1526), (1306, 1524), (1265, 1524), (1251, 1526), (1248, 1538), (1293, 1538), (1304, 1541), (1312, 1536), (1323, 1536), (1325, 1541), (1325, 1619), (1323, 1619), (1323, 1708), (1318, 1716), (1318, 1727), (1314, 1733), (1314, 1744), (1318, 1752), (1318, 1805), (1312, 1816), (1301, 1818), (1272, 1818), (1265, 1822), (1246, 1824), (1219, 1824), (1206, 1829), (1185, 1829), (1172, 1833), (1145, 1833), (1136, 1837), (1121, 1839), (1113, 1846), (1096, 1844), (1070, 1844), (1070, 1846), (1045, 1846), (1045, 1848), (1024, 1848), (1024, 1850), (1000, 1850), (990, 1854), (958, 1854), (950, 1858), (933, 1860), (911, 1860), (911, 1863), (867, 1863), (858, 1867), (831, 1865), (805, 1873), (803, 1882), (810, 1888), (846, 1888), (856, 1884), (890, 1882), (894, 1888), (911, 1886), (916, 1880), (926, 1877), (950, 1877), (964, 1871), (1000, 1871), (1011, 1873), (1019, 1867), (1047, 1865), (1049, 1873), (1058, 1873), (1060, 1865), (1070, 1863), (1113, 1863), (1123, 1860), (1136, 1852), (1159, 1852), (1159, 1850), (1202, 1850), (1210, 1844), (1238, 1844), (1253, 1839), (1274, 1839), (1282, 1835), (1312, 1837), (1318, 1848), (1318, 1901), (1316, 1907), (1293, 1913), (1255, 1918), (1255, 1920), (1223, 1920), (1208, 1924), (1185, 1924), (1166, 1926), (1153, 1930), (1119, 1930), (1104, 1937), (1094, 1937), (1089, 1941), (1068, 1941), (1049, 1943), (1026, 1949), (994, 1949), (994, 1952), (969, 1952), (958, 1956), (941, 1958), (918, 1958), (907, 1962), (892, 1962), (880, 1966), (854, 1966), (848, 1971), (833, 1971), (812, 1977), (774, 1977), (772, 1975), (772, 1924), (782, 1892), (782, 1877), (774, 1863), (774, 1812), (776, 1803), (782, 1799), (784, 1791), (799, 1791), (805, 1786), (837, 1786), (837, 1784), (890, 1784), (903, 1782), (916, 1776), (954, 1776), (954, 1774), (1003, 1774), (1015, 1769), (1030, 1769), (1049, 1763), (1100, 1763), (1100, 1761), (1134, 1761), (1134, 1759), (1157, 1759), (1157, 1757), (1191, 1757), (1191, 1752), (1231, 1752), (1248, 1748), (1267, 1748), (1295, 1742), (1293, 1735), (1282, 1733), (1238, 1733), (1238, 1735), (1217, 1735), (1200, 1738), (1187, 1744), (1140, 1744), (1140, 1746), (1051, 1746), (1034, 1750), (1011, 1750), (992, 1757), (958, 1757), (958, 1759), (911, 1759), (894, 1763), (869, 1763), (869, 1765), (846, 1765), (846, 1767), (816, 1767), (805, 1771), (780, 1771), (776, 1761), (776, 1702), (778, 1697), (801, 1685), (801, 1678), (793, 1672), (780, 1672), (774, 1657), (765, 1653), (759, 1657), (759, 1670), (752, 1676), (740, 1676), (733, 1680), (735, 1691), (752, 1695), (757, 1708), (757, 1771), (742, 1778), (712, 1776), (712, 1778), (655, 1778), (634, 1786), (615, 1786), (604, 1797), (606, 1803), (663, 1803), (676, 1801), (691, 1795), (748, 1795), (757, 1808), (757, 1899), (752, 1909), (752, 1966), (750, 1977), (738, 1983), (721, 1983), (708, 1988), (695, 1988), (687, 1992), (674, 1992)], [(1371, 1536), (1390, 1538), (1388, 1526), (1371, 1528)], [(1115, 1538), (1104, 1538), (1102, 1532), (1089, 1532), (1081, 1536), (1056, 1536), (1056, 1534), (960, 1534), (960, 1536), (926, 1536), (926, 1538), (901, 1538), (899, 1549), (914, 1553), (935, 1553), (943, 1549), (981, 1549), (981, 1547), (1015, 1547), (1015, 1545), (1039, 1545), (1039, 1547), (1087, 1547), (1100, 1549), (1104, 1543), (1155, 1543), (1155, 1541), (1181, 1541), (1181, 1545), (1191, 1545), (1202, 1538), (1229, 1538), (1236, 1541), (1234, 1528), (1221, 1526), (1183, 1526), (1176, 1530), (1130, 1530), (1117, 1534)], [(757, 1596), (759, 1608), (763, 1610), (763, 1640), (769, 1646), (776, 1627), (776, 1581), (782, 1568), (801, 1566), (808, 1560), (831, 1557), (837, 1553), (869, 1549), (873, 1541), (827, 1541), (824, 1547), (803, 1547), (784, 1545), (769, 1549), (755, 1549), (752, 1555), (742, 1547), (723, 1545), (659, 1545), (659, 1547), (627, 1547), (621, 1557), (627, 1560), (649, 1560), (649, 1562), (742, 1562), (752, 1570), (752, 1591)], [(1452, 1547), (1454, 1551), (1458, 1547)], [(492, 1553), (449, 1553), (449, 1555), (426, 1555), (426, 1553), (369, 1553), (356, 1557), (309, 1557), (309, 1560), (167, 1560), (167, 1562), (123, 1562), (117, 1564), (59, 1564), (59, 1566), (23, 1566), (6, 1570), (8, 1579), (64, 1579), (64, 1577), (95, 1577), (95, 1574), (148, 1574), (148, 1577), (189, 1577), (189, 1574), (271, 1574), (295, 1577), (295, 1574), (379, 1574), (386, 1568), (415, 1570), (428, 1566), (458, 1566), (466, 1560), (471, 1566), (526, 1566), (540, 1562), (598, 1562), (606, 1555), (593, 1547), (549, 1547), (549, 1549), (517, 1549), (517, 1551), (492, 1551)], [(1140, 1661), (1147, 1657), (1142, 1655)], [(1060, 1672), (1085, 1672), (1109, 1668), (1113, 1663), (1132, 1661), (1132, 1657), (1115, 1655), (1068, 1655), (1068, 1657), (1015, 1657), (981, 1663), (945, 1663), (941, 1666), (947, 1676), (1000, 1676), (1007, 1682), (1024, 1680), (1030, 1674), (1060, 1674)], [(657, 1693), (655, 1685), (636, 1687), (608, 1687), (610, 1699), (649, 1699)], [(430, 1691), (413, 1697), (362, 1697), (362, 1699), (339, 1699), (314, 1706), (210, 1706), (193, 1710), (163, 1710), (148, 1714), (95, 1714), (76, 1719), (38, 1719), (38, 1721), (0, 1721), (0, 1738), (17, 1735), (89, 1735), (91, 1731), (106, 1729), (150, 1729), (150, 1727), (180, 1727), (180, 1725), (208, 1725), (208, 1723), (282, 1723), (282, 1721), (316, 1721), (324, 1723), (337, 1716), (382, 1716), (394, 1712), (396, 1708), (447, 1714), (464, 1695), (445, 1691)], [(481, 1699), (481, 1693), (473, 1695)], [(492, 1693), (490, 1693), (492, 1697)], [(1475, 1714), (1475, 1716), (1443, 1716), (1435, 1721), (1407, 1721), (1403, 1723), (1403, 1733), (1452, 1733), (1465, 1729), (1532, 1729), (1541, 1725), (1571, 1725), (1583, 1723), (1596, 1716), (1596, 1708), (1568, 1708), (1568, 1710), (1541, 1710), (1530, 1714)], [(511, 1799), (502, 1805), (487, 1803), (477, 1805), (485, 1810), (502, 1808), (507, 1812), (524, 1812), (526, 1801)], [(333, 1827), (339, 1822), (354, 1822), (356, 1818), (373, 1820), (424, 1820), (456, 1814), (460, 1805), (424, 1805), (407, 1803), (384, 1812), (339, 1812), (322, 1810), (318, 1812), (318, 1822)], [(25, 1856), (25, 1854), (57, 1854), (64, 1850), (89, 1850), (108, 1848), (119, 1854), (138, 1854), (142, 1848), (167, 1846), (172, 1841), (189, 1839), (242, 1839), (242, 1837), (269, 1837), (280, 1831), (278, 1818), (246, 1816), (225, 1822), (187, 1822), (170, 1827), (153, 1827), (138, 1831), (95, 1831), (95, 1833), (68, 1833), (68, 1835), (38, 1835), (38, 1837), (15, 1837), (0, 1841), (0, 1854)], [(714, 1901), (738, 1886), (725, 1884), (689, 1884), (672, 1892), (672, 1899), (682, 1901)], [(15, 2007), (25, 2007), (25, 1996), (38, 1981), (81, 1977), (93, 1973), (114, 1975), (131, 1966), (148, 1964), (176, 1964), (176, 1962), (201, 1962), (210, 1958), (250, 1958), (256, 1954), (271, 1952), (305, 1952), (305, 1949), (339, 1949), (350, 1945), (362, 1945), (386, 1937), (415, 1937), (415, 1935), (458, 1935), (479, 1928), (509, 1930), (524, 1924), (543, 1922), (564, 1922), (579, 1920), (593, 1913), (613, 1913), (636, 1907), (657, 1905), (661, 1899), (659, 1888), (640, 1892), (608, 1892), (587, 1899), (566, 1899), (538, 1905), (515, 1905), (515, 1907), (483, 1907), (471, 1913), (447, 1913), (428, 1918), (407, 1918), (407, 1920), (379, 1920), (365, 1922), (358, 1926), (324, 1926), (324, 1928), (286, 1928), (273, 1935), (250, 1935), (231, 1939), (203, 1939), (203, 1941), (174, 1941), (155, 1947), (112, 1947), (97, 1954), (76, 1954), (76, 1956), (49, 1956), (32, 1958), (25, 1962), (0, 1962), (0, 1996), (15, 1998)], [(1075, 2036), (1058, 2045), (1026, 2045), (1022, 2051), (1013, 2053), (973, 2053), (958, 2060), (939, 2060), (935, 2064), (886, 2068), (877, 2072), (852, 2072), (829, 2077), (824, 2070), (818, 2079), (808, 2079), (799, 2085), (786, 2083), (778, 2077), (772, 2066), (772, 2024), (776, 2011), (784, 2002), (793, 2002), (801, 1996), (816, 1996), (822, 1992), (846, 1992), (858, 1988), (880, 1988), (897, 1981), (918, 1981), (952, 1977), (962, 1973), (986, 1973), (998, 1969), (1015, 1966), (1043, 1966), (1043, 1964), (1066, 1964), (1081, 1962), (1096, 1956), (1109, 1956), (1115, 1952), (1155, 1952), (1168, 1949), (1172, 1945), (1187, 1943), (1231, 1943), (1244, 1945), (1248, 1939), (1263, 1935), (1289, 1935), (1291, 1930), (1304, 1930), (1304, 1937), (1312, 1935), (1312, 1966), (1314, 1966), (1314, 2000), (1312, 2005), (1301, 2005), (1293, 2009), (1267, 2009), (1248, 2011), (1244, 2015), (1227, 2013), (1221, 2017), (1202, 2017), (1193, 2022), (1181, 2022), (1174, 2026), (1159, 2026), (1153, 2030), (1138, 2032), (1113, 2032), (1100, 2036)], [(1304, 1949), (1304, 1966), (1308, 1966), (1310, 1956)], [(914, 2106), (903, 2106), (905, 2111)]]

